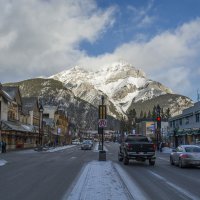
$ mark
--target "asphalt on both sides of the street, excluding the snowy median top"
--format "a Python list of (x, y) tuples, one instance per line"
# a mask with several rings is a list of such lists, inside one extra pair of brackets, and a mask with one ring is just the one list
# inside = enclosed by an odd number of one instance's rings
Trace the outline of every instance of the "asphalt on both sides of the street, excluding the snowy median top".
[[(171, 166), (169, 154), (164, 153), (157, 153), (155, 166), (142, 162), (124, 166), (117, 161), (118, 144), (105, 143), (105, 147), (107, 162), (112, 161), (134, 199), (200, 199), (199, 168)], [(68, 199), (88, 163), (99, 162), (97, 151), (79, 146), (55, 152), (9, 152), (0, 154), (0, 159), (7, 161), (0, 166), (2, 200)]]

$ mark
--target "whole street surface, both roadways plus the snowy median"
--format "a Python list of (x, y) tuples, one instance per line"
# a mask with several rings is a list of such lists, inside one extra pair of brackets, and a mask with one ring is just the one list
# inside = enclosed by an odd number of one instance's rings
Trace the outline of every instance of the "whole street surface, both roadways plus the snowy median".
[(107, 161), (98, 161), (97, 144), (91, 151), (73, 145), (0, 154), (1, 199), (200, 199), (199, 168), (170, 166), (169, 153), (160, 152), (155, 166), (124, 166), (118, 146), (105, 144)]

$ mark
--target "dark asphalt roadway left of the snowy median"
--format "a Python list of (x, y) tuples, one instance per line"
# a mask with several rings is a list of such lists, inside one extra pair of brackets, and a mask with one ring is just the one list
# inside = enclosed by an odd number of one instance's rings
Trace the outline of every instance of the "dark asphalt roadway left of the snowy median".
[(73, 147), (47, 153), (20, 151), (0, 154), (1, 200), (59, 200), (97, 153)]

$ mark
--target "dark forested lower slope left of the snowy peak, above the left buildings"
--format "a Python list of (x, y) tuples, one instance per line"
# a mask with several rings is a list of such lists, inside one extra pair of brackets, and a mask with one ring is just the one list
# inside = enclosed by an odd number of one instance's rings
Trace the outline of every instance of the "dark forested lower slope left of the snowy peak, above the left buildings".
[[(53, 79), (30, 79), (5, 85), (19, 86), (22, 97), (41, 97), (45, 105), (59, 105), (66, 108), (69, 118), (81, 129), (96, 129), (98, 109), (76, 97), (63, 83)], [(108, 116), (108, 128), (118, 127), (119, 123)]]

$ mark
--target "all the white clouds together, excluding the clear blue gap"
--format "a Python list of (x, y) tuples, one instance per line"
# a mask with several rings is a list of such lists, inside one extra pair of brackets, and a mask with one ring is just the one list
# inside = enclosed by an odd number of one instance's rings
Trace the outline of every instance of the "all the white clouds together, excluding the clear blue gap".
[[(154, 22), (149, 15), (153, 3), (139, 10), (129, 7), (138, 15), (134, 18), (138, 26)], [(112, 27), (115, 7), (102, 10), (94, 0), (18, 0), (0, 1), (0, 13), (1, 81), (49, 76), (76, 64), (95, 70), (124, 59), (172, 90), (182, 92), (181, 84), (191, 88), (191, 73), (182, 66), (193, 67), (198, 59), (199, 18), (148, 40), (144, 33), (134, 35), (137, 39), (121, 44), (112, 53), (92, 57), (81, 51), (79, 44), (83, 40), (95, 42)], [(172, 75), (176, 73), (175, 80)]]

